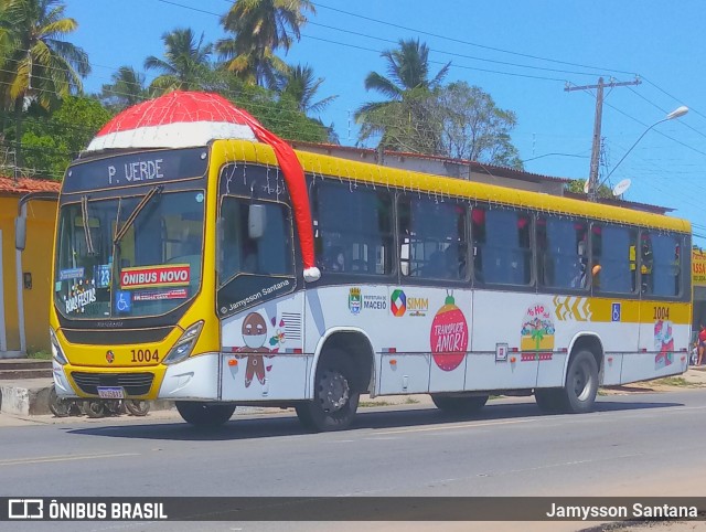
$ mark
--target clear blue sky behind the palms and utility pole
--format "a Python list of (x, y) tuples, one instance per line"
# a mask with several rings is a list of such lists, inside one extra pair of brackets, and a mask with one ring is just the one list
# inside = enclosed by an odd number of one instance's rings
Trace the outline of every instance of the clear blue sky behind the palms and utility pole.
[[(71, 41), (88, 53), (97, 92), (121, 65), (142, 70), (162, 56), (161, 35), (176, 28), (224, 36), (218, 15), (229, 0), (71, 0), (77, 20)], [(379, 99), (363, 86), (371, 71), (385, 74), (383, 50), (419, 39), (431, 50), (432, 73), (451, 62), (446, 81), (466, 81), (517, 115), (512, 135), (531, 172), (588, 177), (595, 91), (566, 92), (567, 83), (599, 76), (638, 86), (606, 91), (602, 136), (607, 166), (620, 161), (645, 129), (680, 105), (691, 111), (660, 124), (610, 177), (631, 179), (624, 198), (674, 208), (692, 221), (706, 246), (706, 2), (702, 0), (314, 0), (302, 39), (285, 57), (323, 77), (320, 96), (338, 95), (321, 114), (343, 145), (356, 142), (352, 114)], [(214, 14), (215, 13), (215, 14)], [(148, 81), (151, 74), (148, 73)], [(704, 236), (699, 236), (704, 235)]]

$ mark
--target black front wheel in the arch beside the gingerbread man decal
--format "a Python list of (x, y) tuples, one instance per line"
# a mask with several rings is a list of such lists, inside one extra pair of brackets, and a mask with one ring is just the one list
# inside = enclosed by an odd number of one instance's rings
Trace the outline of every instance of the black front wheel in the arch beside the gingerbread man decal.
[(343, 430), (351, 426), (361, 392), (353, 382), (344, 353), (329, 355), (317, 370), (313, 401), (296, 406), (301, 424), (312, 432)]

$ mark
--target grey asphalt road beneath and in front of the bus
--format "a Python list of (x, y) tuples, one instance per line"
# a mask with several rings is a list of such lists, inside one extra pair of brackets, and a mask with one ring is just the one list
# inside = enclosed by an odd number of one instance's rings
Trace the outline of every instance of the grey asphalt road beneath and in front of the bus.
[[(531, 397), (491, 401), (472, 419), (426, 404), (362, 408), (352, 429), (329, 434), (307, 434), (291, 413), (234, 416), (208, 432), (170, 414), (71, 418), (2, 427), (0, 449), (4, 497), (704, 496), (706, 390), (601, 396), (585, 415), (543, 415)], [(536, 530), (578, 530), (547, 524)], [(255, 523), (135, 526), (26, 530), (253, 530)]]

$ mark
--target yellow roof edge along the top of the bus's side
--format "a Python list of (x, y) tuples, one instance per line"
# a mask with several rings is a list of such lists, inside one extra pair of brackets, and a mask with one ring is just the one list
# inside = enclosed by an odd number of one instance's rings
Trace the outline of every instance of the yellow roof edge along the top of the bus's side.
[[(264, 143), (244, 140), (216, 140), (214, 149), (234, 152), (240, 160), (248, 162), (277, 166), (272, 149)], [(314, 175), (330, 175), (361, 183), (425, 192), (442, 198), (462, 198), (491, 205), (509, 205), (546, 213), (586, 216), (607, 222), (691, 233), (691, 223), (683, 219), (458, 178), (400, 170), (307, 151), (296, 151), (296, 153), (304, 172)]]

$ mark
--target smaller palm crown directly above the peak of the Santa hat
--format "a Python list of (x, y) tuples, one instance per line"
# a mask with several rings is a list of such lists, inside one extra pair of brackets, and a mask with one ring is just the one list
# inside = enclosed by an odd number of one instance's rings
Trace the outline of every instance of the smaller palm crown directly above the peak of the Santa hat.
[(202, 78), (210, 70), (211, 43), (204, 44), (203, 33), (199, 41), (191, 28), (176, 29), (162, 35), (164, 58), (150, 55), (145, 60), (146, 70), (157, 70), (162, 74), (150, 84), (152, 95), (171, 91), (192, 91), (202, 87)]

